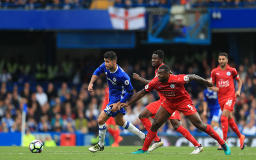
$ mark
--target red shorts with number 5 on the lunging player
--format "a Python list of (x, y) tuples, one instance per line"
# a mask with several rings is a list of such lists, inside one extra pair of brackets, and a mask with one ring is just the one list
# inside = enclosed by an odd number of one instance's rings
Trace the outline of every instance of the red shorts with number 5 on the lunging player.
[(169, 101), (165, 99), (163, 100), (163, 103), (161, 104), (161, 106), (163, 106), (163, 108), (166, 109), (170, 114), (173, 114), (175, 110), (182, 112), (185, 116), (189, 116), (197, 112), (197, 109), (192, 103), (174, 107), (171, 105)]

